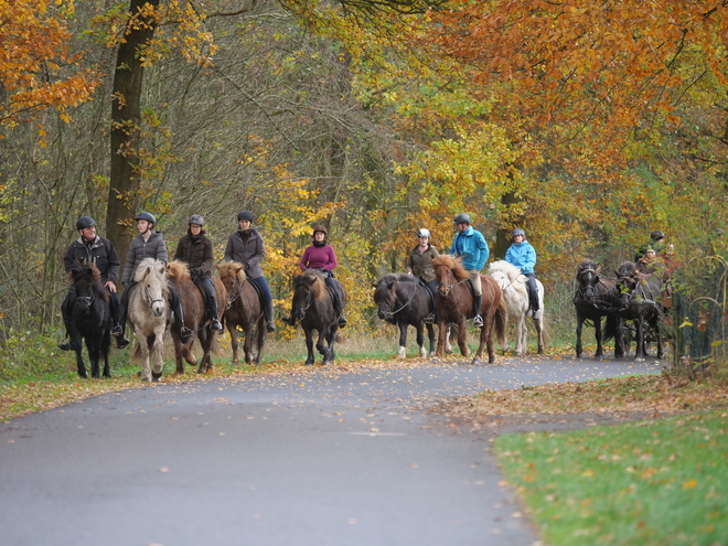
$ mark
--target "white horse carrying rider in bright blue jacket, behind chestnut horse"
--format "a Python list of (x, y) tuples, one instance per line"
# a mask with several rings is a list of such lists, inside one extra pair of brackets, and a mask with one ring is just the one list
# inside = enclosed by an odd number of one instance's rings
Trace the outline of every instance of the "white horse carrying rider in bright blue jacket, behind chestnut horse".
[[(533, 317), (533, 311), (528, 309), (528, 279), (521, 274), (521, 269), (505, 260), (497, 260), (491, 264), (488, 275), (493, 277), (501, 286), (503, 299), (508, 308), (508, 317), (513, 317), (516, 325), (516, 345), (515, 355), (522, 356), (528, 347), (528, 325), (526, 318)], [(544, 354), (544, 285), (536, 279), (538, 287), (538, 309), (540, 317), (534, 319), (534, 325), (538, 333), (538, 354)], [(507, 343), (503, 347), (507, 350)]]

